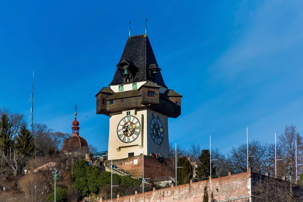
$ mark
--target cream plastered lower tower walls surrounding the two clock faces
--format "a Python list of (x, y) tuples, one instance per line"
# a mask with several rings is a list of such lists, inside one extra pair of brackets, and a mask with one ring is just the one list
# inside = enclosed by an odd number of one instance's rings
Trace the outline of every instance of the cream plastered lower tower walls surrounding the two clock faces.
[[(143, 82), (143, 84), (144, 83), (145, 82)], [(131, 116), (135, 116), (140, 121), (140, 126), (141, 126), (138, 137), (133, 142), (130, 143), (122, 142), (117, 134), (118, 124), (122, 118), (127, 116), (127, 112), (130, 112)], [(158, 116), (160, 121), (162, 122), (163, 130), (164, 130), (164, 139), (160, 145), (157, 145), (153, 141), (149, 132), (151, 119), (153, 119), (153, 117), (158, 117)], [(150, 153), (157, 153), (157, 154), (160, 153), (165, 158), (168, 158), (168, 147), (169, 147), (169, 142), (168, 142), (167, 116), (149, 109), (138, 110), (136, 111), (136, 114), (135, 114), (135, 109), (132, 109), (132, 110), (126, 110), (120, 113), (114, 113), (110, 115), (110, 134), (109, 134), (109, 149), (108, 149), (109, 159), (111, 159), (112, 157), (113, 159), (127, 158), (129, 156), (129, 153), (134, 153), (134, 156), (138, 156), (143, 153), (143, 150), (144, 150), (144, 155), (149, 155)]]

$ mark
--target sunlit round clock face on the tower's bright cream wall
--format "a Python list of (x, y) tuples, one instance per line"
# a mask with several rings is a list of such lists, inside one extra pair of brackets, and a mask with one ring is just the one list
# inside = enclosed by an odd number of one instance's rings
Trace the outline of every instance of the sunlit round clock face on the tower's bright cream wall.
[(135, 116), (126, 116), (121, 119), (117, 126), (117, 135), (120, 141), (130, 143), (137, 139), (140, 134), (140, 121)]

